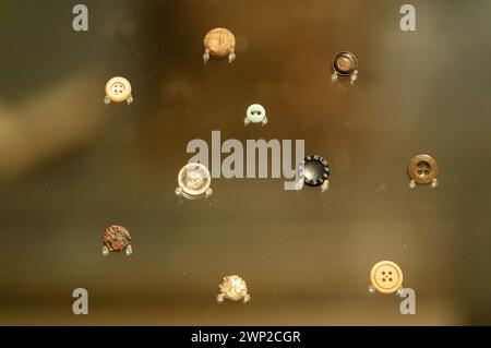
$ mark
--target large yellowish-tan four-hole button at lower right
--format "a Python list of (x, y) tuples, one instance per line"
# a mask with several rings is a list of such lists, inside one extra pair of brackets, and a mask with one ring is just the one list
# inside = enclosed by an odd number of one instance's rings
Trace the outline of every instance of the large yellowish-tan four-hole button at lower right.
[(403, 271), (392, 261), (381, 261), (372, 267), (370, 281), (382, 293), (396, 292), (403, 286)]

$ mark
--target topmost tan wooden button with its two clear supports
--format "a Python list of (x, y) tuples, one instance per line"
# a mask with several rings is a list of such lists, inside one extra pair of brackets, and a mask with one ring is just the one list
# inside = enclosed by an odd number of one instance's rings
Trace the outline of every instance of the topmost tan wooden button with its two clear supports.
[(216, 57), (228, 56), (228, 62), (231, 63), (236, 59), (236, 38), (233, 34), (224, 27), (217, 27), (206, 33), (204, 38), (205, 52), (203, 60), (206, 63), (209, 55)]

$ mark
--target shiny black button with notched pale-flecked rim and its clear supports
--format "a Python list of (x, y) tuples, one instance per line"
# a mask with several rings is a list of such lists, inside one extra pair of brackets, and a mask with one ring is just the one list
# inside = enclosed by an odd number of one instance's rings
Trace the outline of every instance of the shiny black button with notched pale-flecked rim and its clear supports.
[(303, 188), (303, 183), (309, 187), (321, 187), (325, 192), (330, 184), (330, 164), (318, 155), (308, 156), (298, 168), (297, 190)]

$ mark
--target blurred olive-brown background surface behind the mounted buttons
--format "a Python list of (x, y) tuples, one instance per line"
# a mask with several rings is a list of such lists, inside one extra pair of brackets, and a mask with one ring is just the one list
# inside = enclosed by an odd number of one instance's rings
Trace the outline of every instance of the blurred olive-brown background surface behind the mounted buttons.
[[(81, 2), (81, 1), (79, 1)], [(491, 324), (491, 1), (76, 1), (0, 3), (1, 324)], [(216, 26), (237, 60), (202, 62)], [(330, 82), (340, 50), (359, 81)], [(132, 106), (103, 104), (113, 75)], [(267, 127), (244, 128), (262, 104)], [(214, 179), (176, 199), (190, 140), (304, 139), (331, 189)], [(436, 190), (408, 188), (429, 153)], [(134, 254), (103, 257), (120, 224)], [(395, 261), (417, 314), (370, 295)], [(241, 275), (248, 304), (217, 304)], [(72, 313), (86, 288), (89, 314)]]

